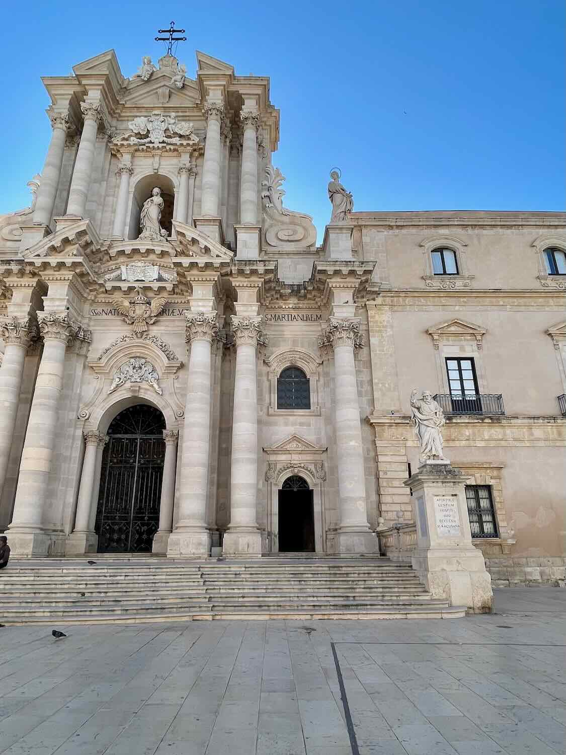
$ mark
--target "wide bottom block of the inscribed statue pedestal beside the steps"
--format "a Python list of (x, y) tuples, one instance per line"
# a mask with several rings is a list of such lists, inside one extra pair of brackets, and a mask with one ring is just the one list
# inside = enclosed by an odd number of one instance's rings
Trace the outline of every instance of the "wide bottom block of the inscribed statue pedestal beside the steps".
[(411, 563), (433, 598), (448, 600), (451, 606), (466, 606), (472, 613), (493, 610), (491, 576), (478, 548), (414, 550)]

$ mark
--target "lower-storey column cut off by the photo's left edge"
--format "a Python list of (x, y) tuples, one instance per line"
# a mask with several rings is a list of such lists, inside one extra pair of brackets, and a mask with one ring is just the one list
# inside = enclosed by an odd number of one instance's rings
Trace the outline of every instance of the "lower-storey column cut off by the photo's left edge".
[(0, 325), (0, 334), (5, 342), (4, 356), (0, 365), (0, 495), (4, 487), (14, 440), (23, 364), (29, 339), (34, 333), (35, 327), (29, 317), (23, 319), (10, 317)]

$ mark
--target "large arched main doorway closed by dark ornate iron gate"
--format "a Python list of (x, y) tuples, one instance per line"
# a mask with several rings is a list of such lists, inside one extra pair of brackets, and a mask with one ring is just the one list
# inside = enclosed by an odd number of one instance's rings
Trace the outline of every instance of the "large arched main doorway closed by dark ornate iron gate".
[(150, 551), (159, 525), (165, 418), (146, 404), (109, 424), (100, 472), (95, 531), (99, 553)]

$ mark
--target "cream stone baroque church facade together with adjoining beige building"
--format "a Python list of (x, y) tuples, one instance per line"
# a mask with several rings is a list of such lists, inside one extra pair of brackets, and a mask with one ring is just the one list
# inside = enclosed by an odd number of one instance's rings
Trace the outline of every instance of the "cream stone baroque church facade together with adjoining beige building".
[(335, 173), (317, 245), (269, 79), (197, 63), (43, 79), (45, 165), (0, 216), (14, 555), (410, 543), (417, 387), (494, 584), (563, 580), (566, 214), (356, 212)]

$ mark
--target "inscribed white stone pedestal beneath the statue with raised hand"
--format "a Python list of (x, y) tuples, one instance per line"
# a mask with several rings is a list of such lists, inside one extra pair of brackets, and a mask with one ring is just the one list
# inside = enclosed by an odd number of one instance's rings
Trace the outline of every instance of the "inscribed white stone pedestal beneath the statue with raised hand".
[(405, 480), (413, 491), (417, 549), (413, 568), (434, 598), (466, 606), (469, 612), (491, 612), (491, 577), (481, 550), (472, 543), (466, 504), (466, 477), (450, 462), (426, 462)]

